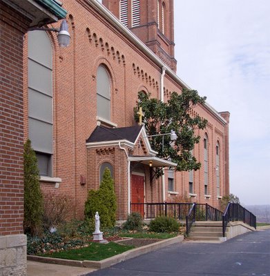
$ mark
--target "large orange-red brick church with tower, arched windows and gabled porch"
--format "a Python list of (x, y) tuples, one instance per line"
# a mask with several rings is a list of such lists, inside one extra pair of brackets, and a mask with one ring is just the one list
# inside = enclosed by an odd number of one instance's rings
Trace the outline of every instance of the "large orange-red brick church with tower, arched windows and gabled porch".
[[(173, 0), (100, 2), (63, 0), (68, 48), (59, 48), (52, 32), (25, 37), (24, 137), (37, 154), (42, 190), (68, 195), (83, 218), (88, 190), (99, 187), (108, 167), (119, 220), (130, 203), (177, 195), (218, 207), (229, 194), (229, 112), (208, 103), (192, 110), (208, 124), (193, 151), (202, 168), (191, 172), (158, 158), (134, 119), (139, 91), (166, 102), (189, 88), (176, 74)], [(155, 167), (166, 168), (160, 179), (151, 177)]]

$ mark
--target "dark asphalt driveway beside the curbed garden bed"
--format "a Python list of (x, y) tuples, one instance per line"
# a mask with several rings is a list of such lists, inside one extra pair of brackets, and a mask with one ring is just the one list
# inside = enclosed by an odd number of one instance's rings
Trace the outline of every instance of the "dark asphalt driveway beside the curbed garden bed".
[(88, 276), (270, 276), (270, 229), (222, 244), (183, 242)]

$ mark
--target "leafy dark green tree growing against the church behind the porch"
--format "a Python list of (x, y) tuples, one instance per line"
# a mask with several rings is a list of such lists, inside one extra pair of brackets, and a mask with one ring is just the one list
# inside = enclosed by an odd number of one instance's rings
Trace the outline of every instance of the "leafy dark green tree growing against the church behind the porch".
[[(191, 110), (205, 100), (206, 97), (200, 97), (196, 90), (185, 88), (181, 94), (173, 92), (166, 103), (151, 98), (151, 94), (139, 92), (137, 106), (134, 108), (135, 120), (139, 120), (137, 112), (142, 107), (147, 135), (164, 134), (171, 130), (177, 135), (177, 140), (173, 143), (169, 135), (150, 138), (152, 148), (158, 152), (157, 157), (175, 162), (176, 170), (197, 170), (201, 166), (191, 151), (200, 141), (200, 136), (195, 135), (195, 131), (204, 129), (207, 121), (199, 115), (191, 116)], [(156, 172), (156, 177), (160, 175), (161, 170)]]

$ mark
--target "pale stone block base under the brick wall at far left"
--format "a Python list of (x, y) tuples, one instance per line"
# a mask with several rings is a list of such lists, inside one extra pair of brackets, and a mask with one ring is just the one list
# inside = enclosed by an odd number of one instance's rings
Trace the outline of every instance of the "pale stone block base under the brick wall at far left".
[(26, 235), (0, 236), (0, 276), (26, 275)]

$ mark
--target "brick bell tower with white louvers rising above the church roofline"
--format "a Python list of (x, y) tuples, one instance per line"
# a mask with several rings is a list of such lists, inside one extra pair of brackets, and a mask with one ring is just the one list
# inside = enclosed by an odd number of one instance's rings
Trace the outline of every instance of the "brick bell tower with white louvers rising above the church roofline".
[(176, 72), (173, 0), (103, 0), (102, 3)]

